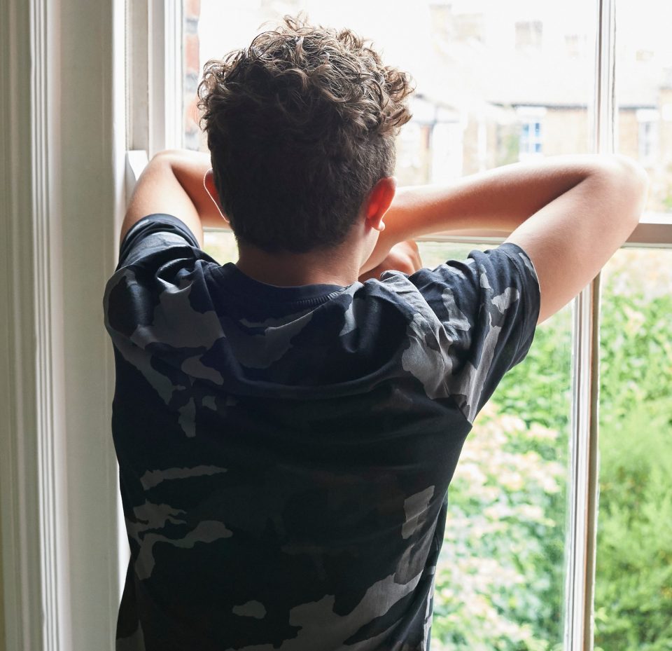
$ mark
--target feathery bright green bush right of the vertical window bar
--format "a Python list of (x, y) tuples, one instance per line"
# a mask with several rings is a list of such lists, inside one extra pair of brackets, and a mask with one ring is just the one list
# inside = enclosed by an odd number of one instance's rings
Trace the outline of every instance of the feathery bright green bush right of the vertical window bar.
[(640, 404), (602, 445), (596, 647), (672, 650), (670, 416)]

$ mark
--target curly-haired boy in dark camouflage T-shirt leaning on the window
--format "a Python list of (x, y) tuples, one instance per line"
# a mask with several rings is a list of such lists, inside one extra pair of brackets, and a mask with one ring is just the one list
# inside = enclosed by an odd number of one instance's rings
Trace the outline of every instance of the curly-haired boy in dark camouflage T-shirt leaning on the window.
[[(409, 92), (351, 32), (288, 18), (207, 64), (211, 160), (162, 153), (139, 179), (105, 298), (118, 650), (428, 649), (471, 423), (631, 233), (646, 181), (577, 156), (396, 191)], [(223, 217), (221, 267), (201, 245)], [(419, 268), (408, 240), (465, 228), (511, 235)]]

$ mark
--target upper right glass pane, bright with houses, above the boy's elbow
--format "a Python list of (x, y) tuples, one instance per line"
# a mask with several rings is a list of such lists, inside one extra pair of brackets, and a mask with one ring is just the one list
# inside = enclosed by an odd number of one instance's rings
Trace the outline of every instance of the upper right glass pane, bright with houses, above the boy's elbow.
[(617, 13), (617, 149), (650, 175), (646, 210), (672, 211), (672, 4), (620, 0)]

